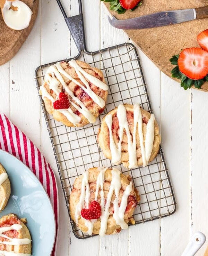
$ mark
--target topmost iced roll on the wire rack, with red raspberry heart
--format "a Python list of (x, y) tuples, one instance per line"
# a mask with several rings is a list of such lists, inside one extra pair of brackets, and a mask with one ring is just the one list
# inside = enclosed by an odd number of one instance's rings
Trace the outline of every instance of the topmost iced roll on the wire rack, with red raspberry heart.
[(99, 69), (72, 59), (49, 67), (39, 93), (54, 119), (69, 127), (80, 127), (94, 123), (103, 112), (107, 90)]

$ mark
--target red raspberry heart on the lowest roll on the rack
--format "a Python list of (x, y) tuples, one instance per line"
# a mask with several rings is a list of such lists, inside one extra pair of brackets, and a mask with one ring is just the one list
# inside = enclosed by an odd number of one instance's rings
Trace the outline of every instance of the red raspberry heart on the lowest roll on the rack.
[(101, 206), (97, 201), (89, 204), (89, 209), (82, 209), (81, 216), (84, 219), (98, 219), (101, 216)]

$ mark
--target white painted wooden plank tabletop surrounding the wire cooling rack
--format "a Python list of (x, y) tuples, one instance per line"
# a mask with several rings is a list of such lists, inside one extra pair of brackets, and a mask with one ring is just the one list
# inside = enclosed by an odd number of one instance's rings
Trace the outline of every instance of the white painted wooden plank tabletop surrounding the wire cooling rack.
[[(0, 111), (41, 149), (57, 177), (60, 214), (57, 256), (180, 256), (194, 232), (202, 231), (208, 236), (208, 93), (184, 91), (138, 49), (153, 110), (161, 125), (177, 211), (161, 220), (131, 226), (120, 234), (86, 240), (75, 238), (68, 225), (67, 207), (41, 114), (34, 71), (40, 64), (75, 56), (77, 49), (56, 1), (39, 1), (31, 34), (18, 54), (0, 66)], [(76, 0), (63, 0), (63, 3), (68, 15), (78, 14)], [(99, 0), (83, 0), (83, 10), (88, 50), (129, 41), (122, 30), (109, 25), (108, 11)], [(207, 244), (198, 256), (203, 255)]]

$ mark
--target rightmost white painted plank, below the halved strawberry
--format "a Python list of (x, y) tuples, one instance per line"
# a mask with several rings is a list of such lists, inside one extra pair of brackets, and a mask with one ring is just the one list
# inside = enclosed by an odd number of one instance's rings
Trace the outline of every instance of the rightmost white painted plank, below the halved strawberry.
[[(207, 194), (208, 194), (208, 94), (192, 90), (191, 125), (191, 235), (197, 231), (208, 237)], [(196, 256), (205, 252), (207, 242)]]

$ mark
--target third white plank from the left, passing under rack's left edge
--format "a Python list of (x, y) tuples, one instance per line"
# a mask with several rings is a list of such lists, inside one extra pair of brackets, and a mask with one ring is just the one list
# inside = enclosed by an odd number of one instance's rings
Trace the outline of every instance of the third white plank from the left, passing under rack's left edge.
[[(62, 1), (62, 4), (66, 11), (68, 11), (69, 1)], [(56, 1), (42, 1), (41, 64), (68, 58), (69, 48), (69, 30)], [(40, 63), (38, 63), (38, 65), (40, 65)], [(59, 235), (57, 238), (57, 255), (69, 255), (69, 216), (43, 114), (41, 115), (41, 150), (55, 173), (58, 186)]]

